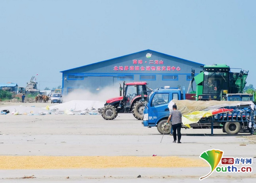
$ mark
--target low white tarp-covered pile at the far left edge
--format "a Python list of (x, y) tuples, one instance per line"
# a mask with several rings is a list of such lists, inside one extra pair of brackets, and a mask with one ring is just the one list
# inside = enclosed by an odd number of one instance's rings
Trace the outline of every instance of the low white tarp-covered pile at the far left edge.
[(31, 114), (38, 114), (39, 112), (43, 112), (45, 114), (48, 114), (49, 111), (46, 109), (42, 109), (39, 107), (30, 107), (30, 106), (5, 106), (5, 107), (1, 107), (1, 110), (9, 110), (10, 113), (8, 113), (7, 115), (12, 114), (13, 111), (15, 112), (19, 112), (19, 114), (26, 114), (26, 113), (31, 113)]

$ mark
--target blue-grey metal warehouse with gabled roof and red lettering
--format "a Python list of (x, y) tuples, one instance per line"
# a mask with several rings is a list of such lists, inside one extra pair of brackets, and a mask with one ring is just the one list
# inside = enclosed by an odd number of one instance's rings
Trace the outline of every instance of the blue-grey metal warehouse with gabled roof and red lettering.
[(152, 89), (164, 86), (177, 88), (180, 85), (187, 90), (191, 68), (202, 65), (153, 50), (144, 50), (61, 71), (62, 92), (63, 95), (76, 89), (97, 92), (108, 86), (118, 86), (122, 81), (146, 81)]

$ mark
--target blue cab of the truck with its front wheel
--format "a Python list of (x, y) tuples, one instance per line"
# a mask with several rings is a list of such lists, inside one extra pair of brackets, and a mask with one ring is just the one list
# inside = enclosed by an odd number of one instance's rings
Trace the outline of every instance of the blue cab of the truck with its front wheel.
[(147, 97), (143, 110), (142, 125), (146, 127), (157, 126), (157, 130), (163, 134), (171, 133), (171, 126), (166, 122), (170, 111), (168, 104), (172, 99), (181, 100), (183, 95), (180, 89), (156, 89)]

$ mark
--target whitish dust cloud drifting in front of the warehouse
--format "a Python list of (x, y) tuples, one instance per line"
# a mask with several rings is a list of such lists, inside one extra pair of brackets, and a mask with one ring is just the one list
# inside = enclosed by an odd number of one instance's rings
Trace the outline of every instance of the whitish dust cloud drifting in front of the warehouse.
[(119, 87), (105, 87), (95, 93), (85, 89), (76, 89), (68, 95), (63, 96), (63, 102), (69, 102), (71, 100), (98, 100), (104, 102), (108, 98), (117, 96), (119, 96)]

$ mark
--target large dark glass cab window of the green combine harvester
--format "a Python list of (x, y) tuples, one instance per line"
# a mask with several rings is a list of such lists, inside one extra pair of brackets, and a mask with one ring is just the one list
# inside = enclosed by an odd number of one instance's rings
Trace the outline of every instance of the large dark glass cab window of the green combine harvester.
[(229, 90), (229, 73), (227, 72), (204, 72), (203, 94), (221, 93)]

